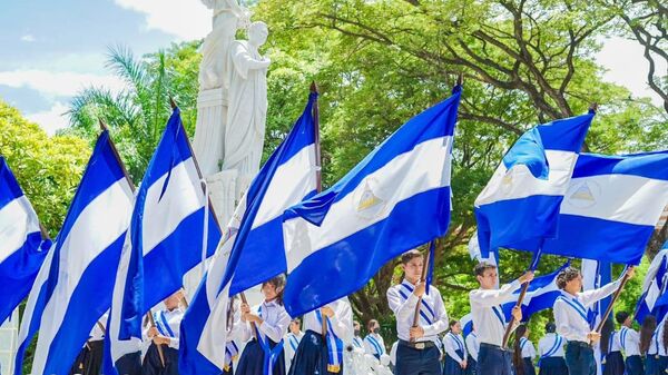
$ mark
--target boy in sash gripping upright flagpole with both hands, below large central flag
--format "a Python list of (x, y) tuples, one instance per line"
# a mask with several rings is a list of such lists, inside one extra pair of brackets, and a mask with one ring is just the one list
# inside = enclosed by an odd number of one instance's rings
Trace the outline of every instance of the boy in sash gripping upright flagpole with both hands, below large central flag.
[[(410, 250), (401, 256), (404, 279), (387, 289), (387, 304), (396, 318), (396, 375), (441, 374), (439, 334), (448, 329), (448, 313), (441, 293), (421, 280), (424, 256)], [(422, 298), (421, 298), (422, 297)], [(418, 326), (413, 326), (420, 300)]]

